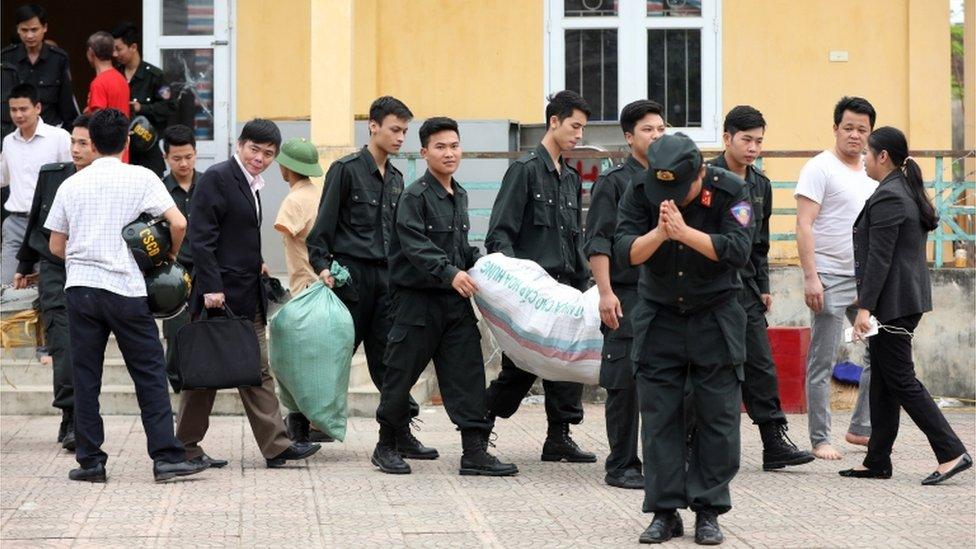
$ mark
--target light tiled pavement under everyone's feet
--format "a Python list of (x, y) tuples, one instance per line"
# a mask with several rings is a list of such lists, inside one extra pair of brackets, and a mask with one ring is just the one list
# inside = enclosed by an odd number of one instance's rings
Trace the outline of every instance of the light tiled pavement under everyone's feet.
[[(574, 429), (602, 460), (607, 447), (600, 405), (588, 405)], [(192, 480), (154, 484), (137, 417), (106, 420), (107, 484), (67, 480), (72, 456), (51, 440), (57, 419), (0, 418), (0, 545), (7, 547), (617, 547), (637, 546), (650, 520), (641, 492), (607, 487), (603, 464), (539, 461), (545, 413), (525, 405), (500, 420), (498, 447), (517, 477), (457, 475), (460, 440), (443, 408), (425, 408), (418, 433), (441, 451), (414, 461), (409, 476), (384, 475), (369, 463), (376, 425), (350, 420), (344, 443), (325, 445), (307, 464), (264, 468), (242, 417), (213, 419), (206, 450), (231, 464)], [(971, 450), (972, 411), (948, 417)], [(891, 480), (847, 480), (841, 462), (818, 461), (784, 472), (761, 471), (759, 436), (743, 416), (742, 468), (732, 484), (734, 509), (721, 519), (727, 547), (976, 546), (976, 475), (944, 486), (919, 480), (934, 467), (928, 445), (903, 416)], [(836, 414), (834, 432), (849, 416)], [(806, 421), (791, 416), (805, 444)], [(694, 515), (684, 512), (693, 546)]]

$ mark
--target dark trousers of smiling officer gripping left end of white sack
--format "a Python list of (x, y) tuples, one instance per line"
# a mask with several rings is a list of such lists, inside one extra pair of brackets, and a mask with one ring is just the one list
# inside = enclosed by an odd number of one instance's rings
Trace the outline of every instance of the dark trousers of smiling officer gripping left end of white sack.
[(407, 292), (424, 298), (426, 312), (398, 308), (376, 420), (393, 429), (410, 423), (410, 388), (433, 359), (448, 417), (460, 429), (487, 431), (481, 334), (470, 300), (453, 290), (398, 290), (397, 299)]

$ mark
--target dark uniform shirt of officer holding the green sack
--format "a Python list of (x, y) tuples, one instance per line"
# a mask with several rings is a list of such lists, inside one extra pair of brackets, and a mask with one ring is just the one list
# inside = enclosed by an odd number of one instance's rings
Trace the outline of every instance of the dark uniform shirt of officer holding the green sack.
[(315, 272), (332, 256), (385, 262), (390, 249), (394, 209), (403, 192), (403, 175), (386, 161), (384, 175), (366, 147), (332, 163), (318, 217), (306, 239)]

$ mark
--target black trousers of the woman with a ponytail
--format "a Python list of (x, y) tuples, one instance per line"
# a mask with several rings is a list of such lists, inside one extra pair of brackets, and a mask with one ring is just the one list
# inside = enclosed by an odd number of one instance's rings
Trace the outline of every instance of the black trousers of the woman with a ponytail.
[[(922, 315), (912, 315), (884, 324), (914, 331)], [(871, 350), (871, 440), (864, 466), (891, 469), (891, 447), (898, 436), (899, 408), (904, 408), (925, 433), (939, 463), (951, 461), (966, 451), (922, 382), (915, 377), (912, 340), (884, 329), (868, 339)]]

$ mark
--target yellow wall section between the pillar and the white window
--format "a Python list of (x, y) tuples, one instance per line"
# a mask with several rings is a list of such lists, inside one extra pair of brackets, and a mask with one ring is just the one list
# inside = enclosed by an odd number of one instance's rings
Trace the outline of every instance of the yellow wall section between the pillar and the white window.
[(355, 2), (353, 112), (395, 95), (419, 118), (542, 122), (542, 2)]

